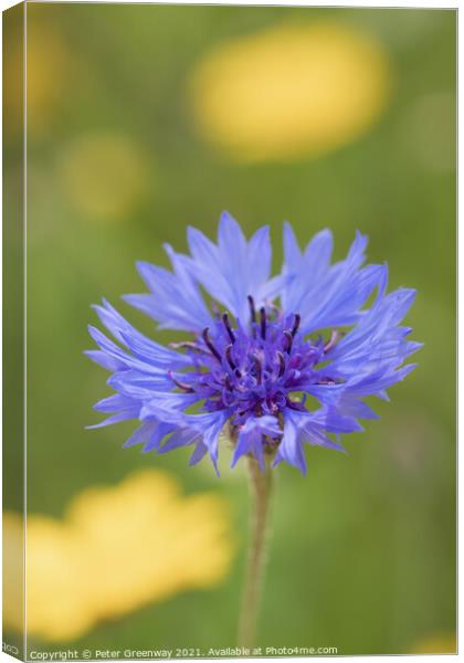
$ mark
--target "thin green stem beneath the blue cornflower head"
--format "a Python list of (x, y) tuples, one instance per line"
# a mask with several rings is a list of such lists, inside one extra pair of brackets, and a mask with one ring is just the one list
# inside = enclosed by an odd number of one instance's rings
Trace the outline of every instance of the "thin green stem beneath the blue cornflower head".
[(261, 589), (266, 561), (272, 471), (266, 463), (264, 472), (261, 472), (255, 459), (249, 459), (249, 470), (250, 487), (253, 493), (253, 508), (250, 528), (250, 552), (239, 624), (239, 645), (251, 650), (255, 643)]

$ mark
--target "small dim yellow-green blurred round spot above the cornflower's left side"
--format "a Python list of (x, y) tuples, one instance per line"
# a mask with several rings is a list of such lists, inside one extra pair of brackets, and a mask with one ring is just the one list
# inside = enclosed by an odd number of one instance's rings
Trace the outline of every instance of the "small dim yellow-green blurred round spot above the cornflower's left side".
[(57, 169), (71, 202), (91, 219), (123, 219), (151, 185), (141, 149), (113, 131), (74, 138), (62, 150)]

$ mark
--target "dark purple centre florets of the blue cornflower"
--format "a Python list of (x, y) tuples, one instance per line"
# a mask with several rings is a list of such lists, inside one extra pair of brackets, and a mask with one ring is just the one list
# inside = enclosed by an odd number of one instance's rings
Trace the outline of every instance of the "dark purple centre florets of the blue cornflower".
[(249, 417), (278, 415), (285, 408), (304, 410), (302, 392), (327, 383), (317, 368), (337, 343), (305, 339), (300, 316), (284, 316), (275, 307), (255, 308), (249, 296), (250, 323), (218, 315), (194, 340), (178, 344), (192, 358), (193, 369), (170, 377), (177, 388), (196, 393), (203, 411), (228, 410), (233, 425)]

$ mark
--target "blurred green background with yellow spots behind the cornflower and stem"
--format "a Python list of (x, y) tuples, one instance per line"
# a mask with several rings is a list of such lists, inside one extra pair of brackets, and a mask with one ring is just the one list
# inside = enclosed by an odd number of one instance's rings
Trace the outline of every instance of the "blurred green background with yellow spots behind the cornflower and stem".
[(276, 267), (284, 219), (302, 242), (330, 227), (337, 257), (369, 234), (391, 287), (418, 288), (425, 344), (349, 455), (278, 467), (259, 644), (454, 651), (455, 19), (28, 6), (30, 649), (235, 644), (243, 469), (123, 450), (131, 424), (86, 431), (108, 389), (82, 354), (102, 296), (171, 340), (119, 296), (143, 290), (136, 260), (167, 265), (164, 242), (228, 209), (271, 225)]

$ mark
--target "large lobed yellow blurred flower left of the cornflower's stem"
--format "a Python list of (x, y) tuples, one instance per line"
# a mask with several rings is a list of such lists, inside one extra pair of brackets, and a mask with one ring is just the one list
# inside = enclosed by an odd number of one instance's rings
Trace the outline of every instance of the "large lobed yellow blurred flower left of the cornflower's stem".
[[(8, 540), (15, 520), (8, 515)], [(168, 473), (154, 470), (85, 490), (63, 520), (28, 517), (27, 545), (27, 630), (49, 641), (73, 640), (101, 620), (213, 587), (233, 554), (223, 499), (182, 496)], [(10, 591), (14, 600), (17, 588)], [(9, 621), (20, 628), (18, 618)]]

